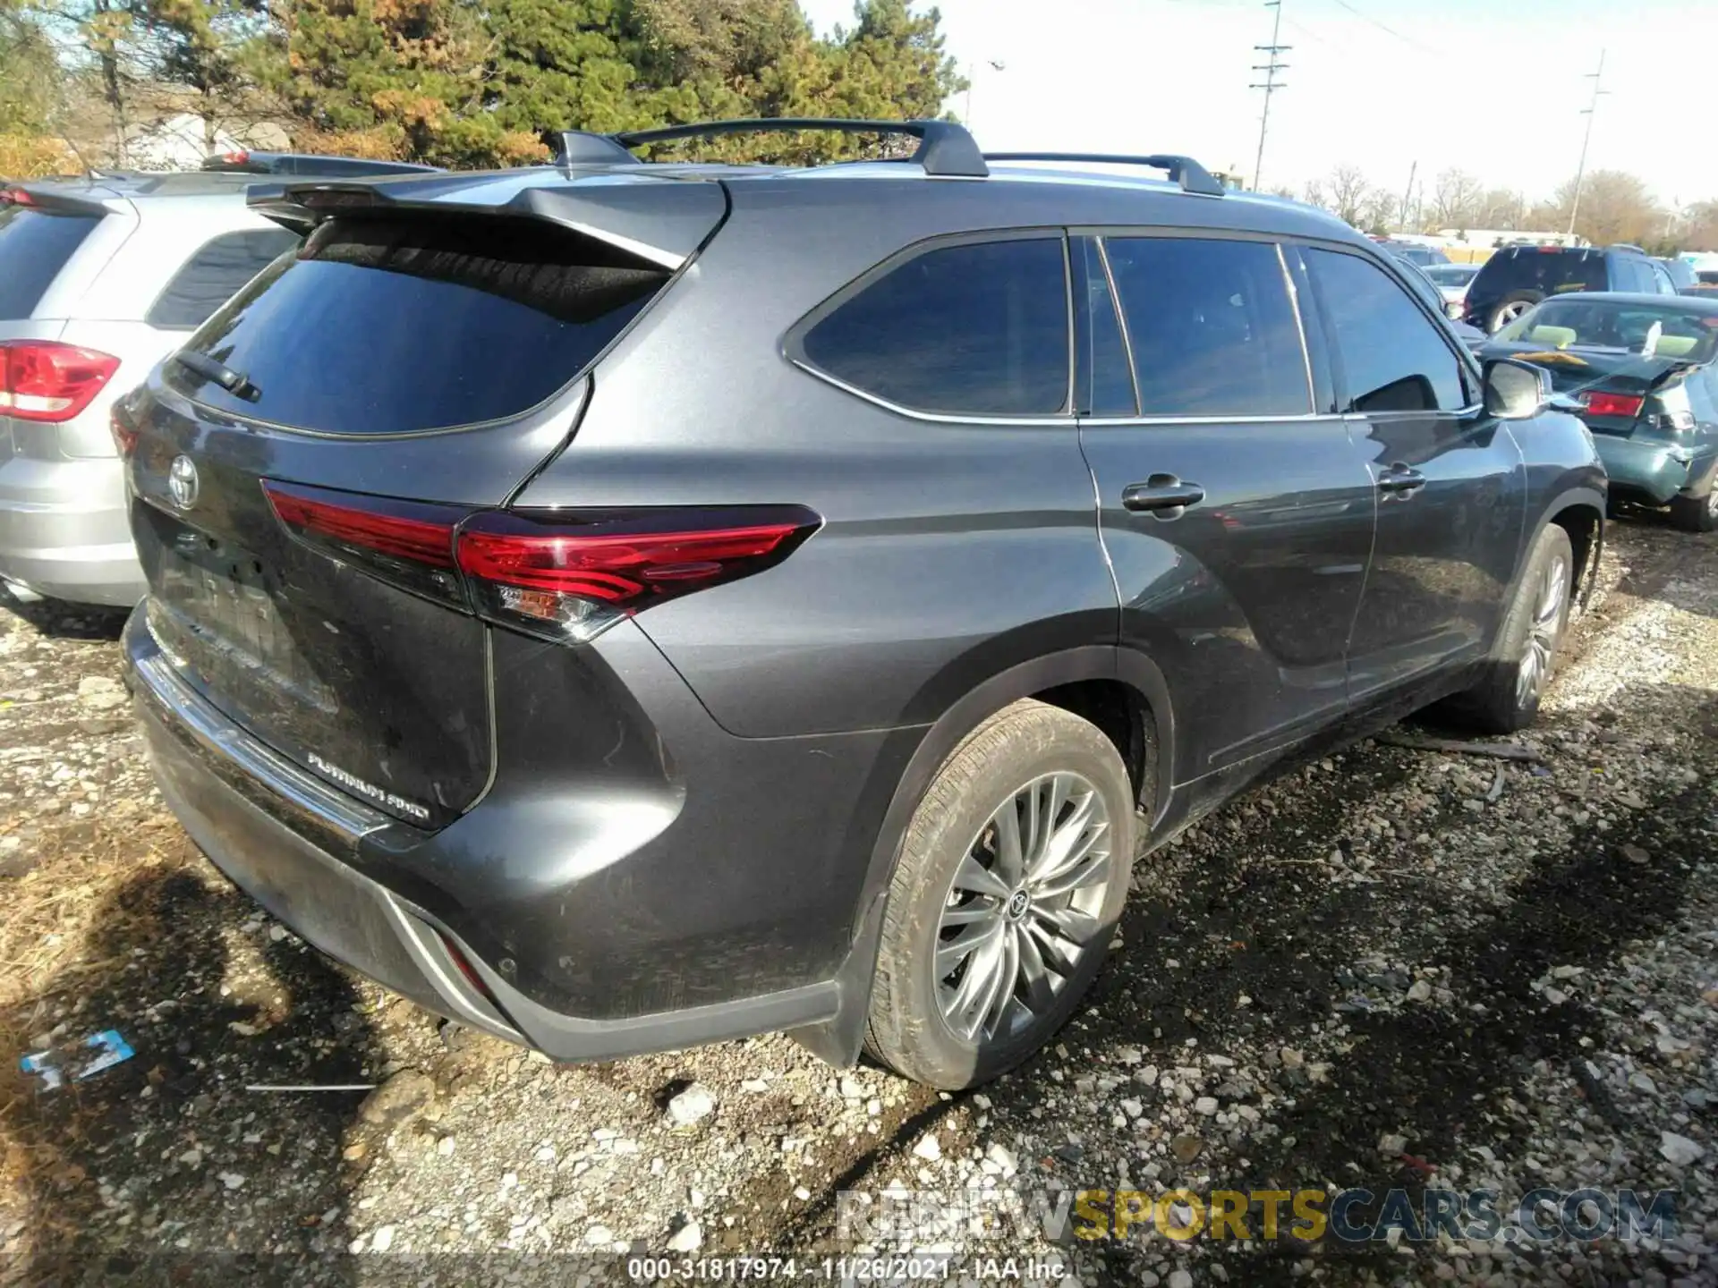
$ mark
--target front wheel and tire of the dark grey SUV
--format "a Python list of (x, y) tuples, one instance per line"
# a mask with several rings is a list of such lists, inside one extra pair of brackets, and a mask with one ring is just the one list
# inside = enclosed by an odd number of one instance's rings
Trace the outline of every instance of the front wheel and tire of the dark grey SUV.
[(1450, 704), (1464, 725), (1479, 733), (1514, 733), (1539, 714), (1539, 699), (1569, 629), (1574, 568), (1569, 532), (1546, 524), (1527, 555), (1484, 678)]

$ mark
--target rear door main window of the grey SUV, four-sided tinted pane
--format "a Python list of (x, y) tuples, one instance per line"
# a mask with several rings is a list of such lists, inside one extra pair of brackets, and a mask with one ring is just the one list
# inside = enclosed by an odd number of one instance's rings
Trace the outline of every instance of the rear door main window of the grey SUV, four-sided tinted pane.
[(1306, 416), (1306, 352), (1276, 246), (1106, 237), (1141, 416)]

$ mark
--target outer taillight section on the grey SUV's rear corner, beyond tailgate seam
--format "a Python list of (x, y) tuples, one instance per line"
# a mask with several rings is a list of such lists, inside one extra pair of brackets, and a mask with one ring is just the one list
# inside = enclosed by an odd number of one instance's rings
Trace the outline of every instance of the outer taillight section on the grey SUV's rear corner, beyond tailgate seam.
[(460, 527), (457, 555), (484, 617), (577, 641), (653, 603), (775, 567), (819, 522), (797, 505), (491, 512)]

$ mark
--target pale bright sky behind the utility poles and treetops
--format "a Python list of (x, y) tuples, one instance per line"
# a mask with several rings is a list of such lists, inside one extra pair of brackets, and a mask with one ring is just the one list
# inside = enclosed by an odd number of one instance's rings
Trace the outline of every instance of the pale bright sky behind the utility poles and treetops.
[[(850, 0), (801, 0), (826, 33)], [(916, 3), (916, 9), (928, 9)], [(986, 151), (1185, 153), (1252, 182), (1268, 55), (1259, 0), (941, 0), (948, 53), (974, 81)], [(1261, 185), (1337, 165), (1378, 187), (1460, 167), (1529, 199), (1575, 173), (1605, 55), (1587, 168), (1637, 173), (1665, 203), (1718, 197), (1713, 0), (1283, 0), (1287, 86), (1271, 98)], [(1000, 62), (1003, 70), (990, 64)], [(976, 69), (976, 72), (972, 70)]]

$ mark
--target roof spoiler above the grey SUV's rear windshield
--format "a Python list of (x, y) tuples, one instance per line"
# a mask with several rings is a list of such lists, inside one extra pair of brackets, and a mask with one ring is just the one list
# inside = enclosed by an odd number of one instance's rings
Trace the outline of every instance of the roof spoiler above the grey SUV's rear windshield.
[(557, 223), (653, 268), (677, 271), (727, 216), (728, 197), (715, 182), (591, 184), (524, 187), (500, 204), (443, 201), (440, 194), (474, 187), (469, 179), (309, 184), (251, 184), (246, 204), (258, 215), (308, 234), (333, 216), (490, 215)]

